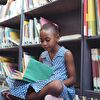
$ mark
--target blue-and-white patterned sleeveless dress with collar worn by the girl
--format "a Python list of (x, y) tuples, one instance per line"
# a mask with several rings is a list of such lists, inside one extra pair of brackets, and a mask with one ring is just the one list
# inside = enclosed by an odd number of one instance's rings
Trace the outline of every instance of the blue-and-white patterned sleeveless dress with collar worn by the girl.
[[(33, 87), (35, 92), (39, 92), (45, 85), (47, 85), (49, 82), (51, 82), (53, 80), (61, 80), (62, 81), (62, 80), (67, 79), (68, 73), (66, 71), (65, 60), (64, 60), (64, 55), (65, 55), (65, 52), (67, 52), (67, 51), (68, 51), (68, 49), (66, 49), (64, 47), (60, 47), (58, 52), (52, 59), (52, 61), (49, 57), (48, 51), (44, 51), (41, 54), (43, 63), (48, 64), (50, 67), (53, 67), (53, 69), (54, 69), (53, 74), (47, 80), (42, 80), (42, 81), (38, 80), (36, 82), (29, 83), (29, 82), (21, 81), (21, 80), (12, 80), (8, 77), (6, 80), (9, 85), (11, 94), (16, 97), (25, 99), (25, 96), (26, 96), (29, 86)], [(70, 88), (68, 88), (68, 87), (66, 87), (66, 88), (67, 88), (66, 92), (68, 92), (68, 94), (73, 97), (75, 95), (74, 87), (72, 86)], [(69, 99), (69, 100), (71, 100), (71, 99)]]

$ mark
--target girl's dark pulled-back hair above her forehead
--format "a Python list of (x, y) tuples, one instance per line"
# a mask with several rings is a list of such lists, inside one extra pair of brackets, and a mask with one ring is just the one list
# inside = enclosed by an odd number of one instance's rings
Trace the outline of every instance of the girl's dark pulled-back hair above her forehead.
[[(54, 24), (54, 23), (46, 23), (46, 24), (44, 24), (42, 27), (41, 27), (41, 29), (40, 29), (40, 32), (42, 31), (42, 30), (52, 30), (52, 32), (54, 32), (54, 33), (60, 33), (60, 29), (59, 29), (59, 26), (57, 25), (57, 24)], [(59, 34), (60, 35), (60, 34)]]

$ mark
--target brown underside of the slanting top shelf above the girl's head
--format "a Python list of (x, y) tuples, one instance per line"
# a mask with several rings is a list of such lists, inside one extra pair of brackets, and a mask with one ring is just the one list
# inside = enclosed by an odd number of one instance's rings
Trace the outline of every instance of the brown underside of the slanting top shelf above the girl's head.
[[(74, 2), (74, 3), (73, 3)], [(52, 15), (69, 12), (80, 8), (81, 0), (57, 0), (25, 12), (27, 16)], [(49, 10), (48, 10), (49, 9)]]

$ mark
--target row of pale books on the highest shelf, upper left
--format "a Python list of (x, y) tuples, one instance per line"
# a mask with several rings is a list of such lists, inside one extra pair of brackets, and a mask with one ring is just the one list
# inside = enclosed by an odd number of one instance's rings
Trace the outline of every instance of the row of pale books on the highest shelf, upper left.
[[(23, 0), (24, 12), (46, 5), (53, 1), (56, 0)], [(21, 9), (23, 4), (22, 4), (22, 0), (13, 0), (12, 3), (9, 5), (9, 7), (7, 7), (8, 6), (7, 4), (4, 6), (1, 5), (2, 7), (2, 9), (0, 9), (0, 13), (2, 13), (1, 21), (21, 14)]]

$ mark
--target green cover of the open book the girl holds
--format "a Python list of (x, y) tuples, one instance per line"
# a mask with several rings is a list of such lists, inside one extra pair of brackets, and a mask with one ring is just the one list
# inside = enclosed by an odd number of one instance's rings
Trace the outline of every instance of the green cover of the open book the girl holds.
[(23, 80), (29, 82), (48, 79), (53, 73), (52, 67), (30, 57)]

